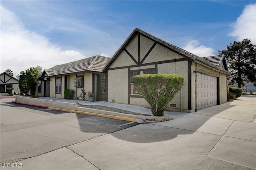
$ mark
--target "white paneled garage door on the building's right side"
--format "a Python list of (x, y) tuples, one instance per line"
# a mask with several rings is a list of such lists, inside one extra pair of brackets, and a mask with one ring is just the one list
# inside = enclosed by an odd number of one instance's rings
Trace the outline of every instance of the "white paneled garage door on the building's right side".
[(198, 73), (197, 109), (217, 105), (217, 78)]

